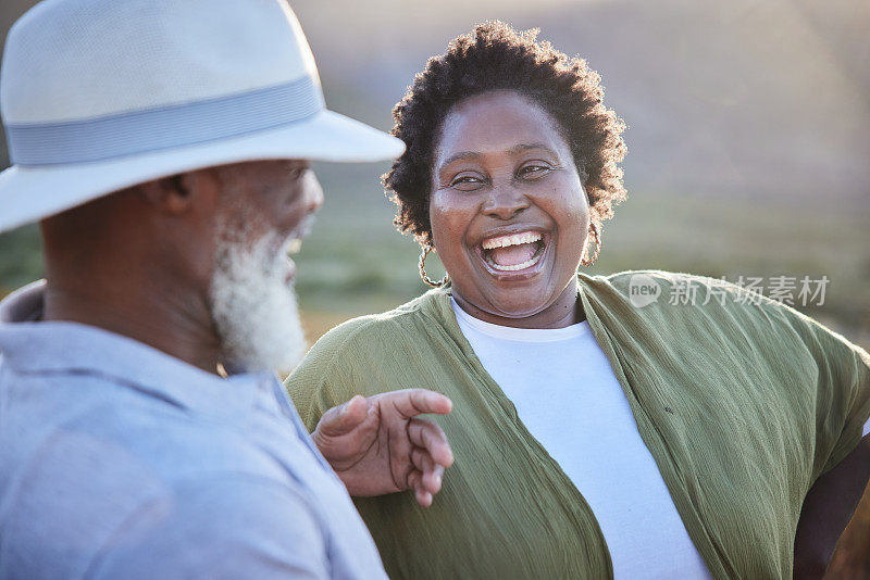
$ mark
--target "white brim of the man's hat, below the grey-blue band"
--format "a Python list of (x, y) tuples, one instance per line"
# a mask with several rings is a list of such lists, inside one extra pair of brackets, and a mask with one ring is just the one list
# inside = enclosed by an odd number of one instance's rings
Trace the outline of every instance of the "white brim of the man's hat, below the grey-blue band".
[(0, 173), (0, 232), (38, 222), (136, 184), (183, 172), (279, 159), (372, 162), (396, 159), (405, 143), (333, 111), (278, 128), (70, 165), (12, 166)]

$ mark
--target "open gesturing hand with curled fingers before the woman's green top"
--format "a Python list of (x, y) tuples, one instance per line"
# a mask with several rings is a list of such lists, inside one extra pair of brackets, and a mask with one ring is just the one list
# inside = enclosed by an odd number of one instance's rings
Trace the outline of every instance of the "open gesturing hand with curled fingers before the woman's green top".
[(327, 411), (311, 438), (350, 495), (414, 490), (428, 507), (453, 453), (442, 428), (417, 416), (451, 408), (449, 399), (425, 389), (356, 395)]

